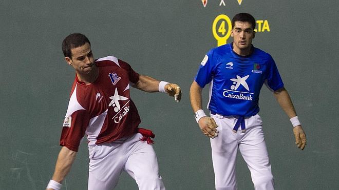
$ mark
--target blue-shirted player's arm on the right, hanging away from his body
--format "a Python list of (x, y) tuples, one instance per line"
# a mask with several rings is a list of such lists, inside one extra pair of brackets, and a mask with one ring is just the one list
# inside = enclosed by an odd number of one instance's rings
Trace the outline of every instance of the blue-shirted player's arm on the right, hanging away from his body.
[[(277, 91), (274, 91), (274, 96), (277, 99), (280, 107), (285, 111), (288, 117), (290, 119), (295, 118), (296, 112), (287, 90), (285, 88), (281, 88)], [(298, 124), (294, 126), (293, 133), (295, 137), (295, 144), (298, 146), (299, 149), (304, 150), (306, 145), (306, 135), (302, 128), (302, 125)]]

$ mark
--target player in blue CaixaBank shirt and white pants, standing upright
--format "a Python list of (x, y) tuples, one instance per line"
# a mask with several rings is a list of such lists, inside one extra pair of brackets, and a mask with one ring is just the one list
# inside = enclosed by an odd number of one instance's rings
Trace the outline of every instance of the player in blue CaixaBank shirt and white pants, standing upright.
[[(306, 135), (273, 58), (252, 45), (254, 28), (252, 15), (235, 15), (231, 30), (234, 41), (205, 55), (190, 90), (196, 121), (201, 131), (211, 138), (215, 188), (218, 190), (237, 188), (238, 147), (249, 167), (255, 189), (274, 189), (262, 121), (257, 114), (259, 93), (264, 83), (290, 118), (298, 148), (304, 150), (306, 145)], [(205, 115), (201, 103), (201, 91), (208, 83), (211, 83), (208, 103), (211, 117)]]

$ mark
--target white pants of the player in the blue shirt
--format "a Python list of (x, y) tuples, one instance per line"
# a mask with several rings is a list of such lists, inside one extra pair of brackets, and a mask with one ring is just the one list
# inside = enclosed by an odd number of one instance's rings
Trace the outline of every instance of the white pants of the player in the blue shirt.
[(239, 128), (234, 133), (235, 117), (212, 115), (218, 125), (218, 137), (211, 139), (212, 160), (217, 190), (237, 189), (235, 179), (235, 163), (239, 147), (243, 159), (251, 172), (252, 182), (256, 190), (274, 189), (271, 164), (262, 131), (259, 115), (245, 118), (246, 132)]

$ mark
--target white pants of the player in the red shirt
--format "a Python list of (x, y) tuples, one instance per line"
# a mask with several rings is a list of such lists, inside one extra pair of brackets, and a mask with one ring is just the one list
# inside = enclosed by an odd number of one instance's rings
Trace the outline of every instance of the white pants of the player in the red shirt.
[(88, 189), (114, 189), (122, 171), (136, 180), (140, 190), (165, 189), (153, 146), (137, 133), (112, 143), (89, 147)]

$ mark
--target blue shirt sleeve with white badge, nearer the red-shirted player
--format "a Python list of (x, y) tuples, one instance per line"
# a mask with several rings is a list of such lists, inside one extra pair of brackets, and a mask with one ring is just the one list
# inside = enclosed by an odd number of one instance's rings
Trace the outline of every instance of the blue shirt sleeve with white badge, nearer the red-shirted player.
[(198, 73), (195, 76), (195, 81), (201, 88), (212, 81), (214, 74), (213, 59), (213, 50), (210, 50), (201, 61)]

